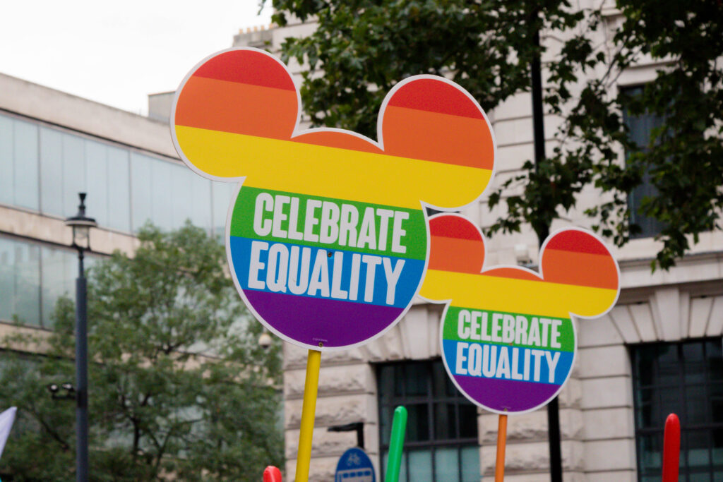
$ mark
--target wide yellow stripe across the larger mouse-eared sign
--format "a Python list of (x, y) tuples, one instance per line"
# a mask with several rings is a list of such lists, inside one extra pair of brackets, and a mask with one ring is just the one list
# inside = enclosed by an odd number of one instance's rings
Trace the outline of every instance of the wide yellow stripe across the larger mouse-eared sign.
[(458, 207), (474, 201), (492, 171), (373, 152), (338, 149), (176, 126), (186, 158), (245, 186), (419, 209), (419, 201)]

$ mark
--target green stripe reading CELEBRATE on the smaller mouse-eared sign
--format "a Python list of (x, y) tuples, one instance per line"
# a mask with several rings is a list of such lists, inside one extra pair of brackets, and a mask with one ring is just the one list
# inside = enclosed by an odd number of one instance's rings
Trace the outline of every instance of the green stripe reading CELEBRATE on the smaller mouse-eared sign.
[[(445, 340), (491, 345), (515, 345), (558, 351), (575, 350), (573, 322), (569, 318), (503, 313), (459, 306), (450, 306), (447, 310), (442, 337)], [(553, 346), (555, 342), (559, 346)]]

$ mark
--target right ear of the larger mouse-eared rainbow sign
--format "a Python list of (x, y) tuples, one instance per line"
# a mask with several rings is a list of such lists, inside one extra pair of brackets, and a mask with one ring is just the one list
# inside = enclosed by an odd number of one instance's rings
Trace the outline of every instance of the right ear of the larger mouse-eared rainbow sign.
[(492, 127), (469, 92), (444, 77), (395, 85), (382, 103), (379, 139), (388, 155), (414, 159), (410, 168), (440, 180), (438, 189), (415, 193), (434, 207), (469, 205), (492, 178)]

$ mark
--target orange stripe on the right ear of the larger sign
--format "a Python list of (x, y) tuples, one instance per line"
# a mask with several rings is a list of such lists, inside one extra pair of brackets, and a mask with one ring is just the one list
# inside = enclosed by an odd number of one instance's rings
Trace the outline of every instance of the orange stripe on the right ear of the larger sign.
[(384, 150), (390, 155), (492, 169), (492, 135), (484, 119), (387, 106)]

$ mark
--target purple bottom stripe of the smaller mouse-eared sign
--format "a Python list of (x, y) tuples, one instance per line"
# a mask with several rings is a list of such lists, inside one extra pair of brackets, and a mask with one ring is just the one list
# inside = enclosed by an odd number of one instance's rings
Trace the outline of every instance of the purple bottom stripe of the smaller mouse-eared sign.
[(560, 385), (518, 382), (513, 380), (499, 380), (494, 378), (484, 379), (484, 383), (474, 376), (455, 376), (455, 381), (461, 389), (477, 403), (482, 403), (487, 408), (498, 410), (505, 409), (510, 412), (521, 412), (529, 410), (544, 403), (555, 395)]

